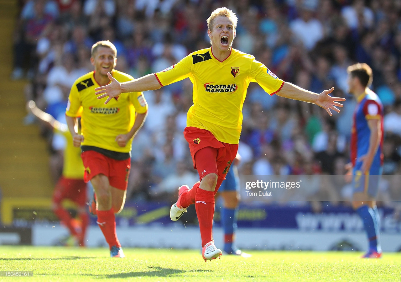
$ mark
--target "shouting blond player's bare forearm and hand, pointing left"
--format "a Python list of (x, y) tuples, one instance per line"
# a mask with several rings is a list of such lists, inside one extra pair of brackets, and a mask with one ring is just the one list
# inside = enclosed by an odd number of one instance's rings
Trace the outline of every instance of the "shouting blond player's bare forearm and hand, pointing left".
[(102, 94), (97, 97), (98, 99), (108, 96), (104, 102), (105, 104), (121, 93), (156, 90), (162, 87), (154, 74), (148, 74), (146, 76), (142, 76), (142, 78), (122, 83), (115, 80), (110, 73), (107, 73), (107, 76), (111, 82), (105, 86), (95, 88), (96, 95)]

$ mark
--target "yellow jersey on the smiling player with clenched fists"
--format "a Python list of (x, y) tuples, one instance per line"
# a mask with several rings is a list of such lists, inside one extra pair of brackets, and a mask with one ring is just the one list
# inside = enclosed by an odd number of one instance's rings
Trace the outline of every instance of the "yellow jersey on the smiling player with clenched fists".
[[(118, 82), (127, 82), (134, 78), (123, 72), (113, 70), (113, 78)], [(129, 153), (132, 140), (126, 147), (119, 147), (115, 137), (126, 134), (134, 125), (135, 112), (140, 114), (148, 110), (148, 104), (142, 92), (130, 92), (119, 95), (106, 105), (104, 99), (97, 99), (95, 88), (100, 85), (89, 72), (78, 78), (71, 88), (65, 114), (71, 117), (81, 116), (82, 146), (94, 146), (110, 151)]]

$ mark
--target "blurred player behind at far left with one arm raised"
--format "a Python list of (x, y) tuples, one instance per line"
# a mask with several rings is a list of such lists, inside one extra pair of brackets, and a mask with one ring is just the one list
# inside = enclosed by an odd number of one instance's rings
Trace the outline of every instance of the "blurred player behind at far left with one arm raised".
[[(60, 221), (68, 228), (76, 243), (84, 247), (86, 230), (89, 225), (89, 215), (86, 211), (87, 184), (83, 181), (84, 168), (80, 157), (81, 150), (74, 147), (73, 138), (66, 124), (60, 123), (50, 114), (43, 112), (36, 106), (34, 101), (28, 101), (26, 108), (42, 121), (49, 123), (55, 133), (60, 133), (65, 137), (63, 173), (57, 181), (53, 192), (52, 209)], [(77, 204), (77, 213), (80, 221), (78, 230), (73, 224), (73, 218), (69, 211), (62, 205), (65, 199), (69, 199)]]

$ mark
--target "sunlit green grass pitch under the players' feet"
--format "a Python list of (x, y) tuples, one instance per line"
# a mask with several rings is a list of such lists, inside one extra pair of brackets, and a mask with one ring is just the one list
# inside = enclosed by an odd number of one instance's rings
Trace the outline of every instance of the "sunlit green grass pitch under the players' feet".
[(249, 251), (205, 263), (200, 251), (1, 246), (0, 270), (33, 277), (0, 281), (400, 281), (401, 253), (360, 259), (359, 252)]

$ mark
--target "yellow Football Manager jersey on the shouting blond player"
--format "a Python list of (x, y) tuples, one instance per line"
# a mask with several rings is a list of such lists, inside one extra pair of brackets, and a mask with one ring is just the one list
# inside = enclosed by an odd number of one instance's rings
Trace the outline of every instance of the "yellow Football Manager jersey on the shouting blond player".
[(216, 59), (211, 48), (195, 51), (155, 75), (161, 86), (189, 77), (194, 104), (186, 125), (207, 129), (217, 140), (230, 144), (239, 142), (249, 82), (257, 82), (270, 95), (284, 84), (253, 55), (233, 48), (224, 61)]

